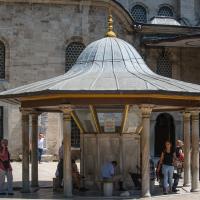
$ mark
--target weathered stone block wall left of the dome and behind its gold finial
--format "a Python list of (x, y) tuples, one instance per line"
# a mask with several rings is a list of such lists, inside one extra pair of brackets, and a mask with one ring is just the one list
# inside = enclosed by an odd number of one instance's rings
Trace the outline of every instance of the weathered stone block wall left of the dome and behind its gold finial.
[[(65, 45), (79, 37), (85, 45), (104, 37), (108, 10), (102, 7), (52, 4), (0, 4), (0, 40), (8, 44), (6, 88), (64, 73)], [(128, 27), (114, 15), (115, 31), (132, 42)], [(130, 29), (130, 28), (129, 28)]]

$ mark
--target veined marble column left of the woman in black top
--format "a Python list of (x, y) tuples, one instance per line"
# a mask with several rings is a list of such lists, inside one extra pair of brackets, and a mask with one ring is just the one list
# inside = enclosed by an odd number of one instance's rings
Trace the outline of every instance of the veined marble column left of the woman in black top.
[(140, 151), (142, 155), (142, 197), (150, 197), (150, 106), (142, 106), (142, 132), (140, 137)]

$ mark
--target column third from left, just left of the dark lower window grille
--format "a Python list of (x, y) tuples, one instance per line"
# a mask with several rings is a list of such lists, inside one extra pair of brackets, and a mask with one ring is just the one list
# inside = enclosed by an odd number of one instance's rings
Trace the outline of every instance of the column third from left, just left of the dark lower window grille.
[(71, 115), (70, 111), (63, 111), (63, 181), (65, 197), (72, 197), (72, 170), (71, 170)]

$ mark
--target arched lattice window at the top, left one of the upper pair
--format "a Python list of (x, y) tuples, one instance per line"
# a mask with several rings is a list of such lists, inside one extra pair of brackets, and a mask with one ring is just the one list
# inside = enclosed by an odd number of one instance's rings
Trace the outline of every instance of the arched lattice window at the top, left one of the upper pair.
[(141, 5), (136, 5), (131, 9), (131, 15), (136, 22), (147, 23), (147, 11)]

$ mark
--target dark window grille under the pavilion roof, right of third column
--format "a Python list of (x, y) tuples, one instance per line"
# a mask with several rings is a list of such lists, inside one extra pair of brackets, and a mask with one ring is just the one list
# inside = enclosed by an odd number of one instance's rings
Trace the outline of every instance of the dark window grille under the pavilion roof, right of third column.
[(80, 147), (80, 130), (76, 125), (76, 122), (71, 119), (71, 145), (72, 147)]

